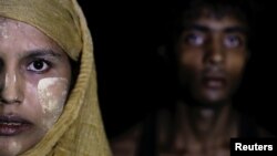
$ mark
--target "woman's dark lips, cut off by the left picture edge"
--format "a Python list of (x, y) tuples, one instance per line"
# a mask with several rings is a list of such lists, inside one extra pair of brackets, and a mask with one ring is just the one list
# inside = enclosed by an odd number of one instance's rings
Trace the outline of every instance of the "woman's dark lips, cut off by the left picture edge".
[(30, 129), (32, 124), (14, 115), (0, 115), (0, 136), (16, 136)]

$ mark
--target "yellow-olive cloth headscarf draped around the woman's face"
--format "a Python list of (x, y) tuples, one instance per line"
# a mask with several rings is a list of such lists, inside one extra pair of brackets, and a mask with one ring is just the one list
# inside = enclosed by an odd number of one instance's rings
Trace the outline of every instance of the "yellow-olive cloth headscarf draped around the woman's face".
[(38, 28), (81, 65), (62, 115), (23, 156), (111, 155), (96, 95), (92, 40), (76, 0), (0, 0), (0, 15)]

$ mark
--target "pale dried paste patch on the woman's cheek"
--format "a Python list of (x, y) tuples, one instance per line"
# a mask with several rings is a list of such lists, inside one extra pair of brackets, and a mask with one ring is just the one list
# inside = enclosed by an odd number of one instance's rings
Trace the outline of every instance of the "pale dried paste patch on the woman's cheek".
[(43, 113), (43, 126), (49, 129), (60, 117), (68, 95), (68, 80), (45, 77), (38, 83), (39, 102)]

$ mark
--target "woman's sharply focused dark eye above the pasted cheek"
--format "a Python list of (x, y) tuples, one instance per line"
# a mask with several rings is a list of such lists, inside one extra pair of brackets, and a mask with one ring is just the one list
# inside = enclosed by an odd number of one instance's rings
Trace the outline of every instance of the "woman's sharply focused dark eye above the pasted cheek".
[(31, 62), (27, 70), (28, 71), (33, 71), (33, 72), (45, 72), (49, 70), (49, 63), (44, 60), (37, 60), (37, 61), (33, 61)]

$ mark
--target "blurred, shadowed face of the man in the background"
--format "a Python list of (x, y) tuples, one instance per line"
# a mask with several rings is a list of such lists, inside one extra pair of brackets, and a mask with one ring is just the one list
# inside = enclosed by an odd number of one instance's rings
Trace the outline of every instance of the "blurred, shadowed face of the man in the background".
[(247, 60), (245, 25), (230, 15), (203, 14), (176, 44), (181, 85), (198, 104), (228, 102)]

